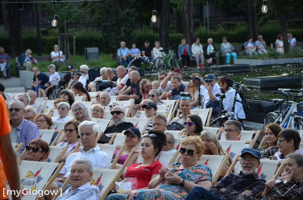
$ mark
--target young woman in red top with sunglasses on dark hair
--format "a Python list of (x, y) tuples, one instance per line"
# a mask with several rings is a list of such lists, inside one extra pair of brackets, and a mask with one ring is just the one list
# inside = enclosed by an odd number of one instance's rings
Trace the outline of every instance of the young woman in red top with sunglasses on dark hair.
[[(166, 136), (162, 131), (150, 130), (147, 134), (144, 134), (140, 148), (143, 162), (132, 164), (125, 168), (118, 181), (121, 182), (127, 177), (136, 177), (136, 189), (148, 189), (150, 181), (159, 175), (162, 167), (158, 160), (155, 161), (155, 157), (161, 152), (163, 145), (166, 145)], [(119, 164), (115, 165), (115, 169), (121, 169), (121, 167)], [(125, 199), (127, 193), (111, 194), (105, 200)]]

